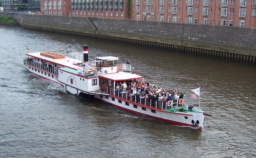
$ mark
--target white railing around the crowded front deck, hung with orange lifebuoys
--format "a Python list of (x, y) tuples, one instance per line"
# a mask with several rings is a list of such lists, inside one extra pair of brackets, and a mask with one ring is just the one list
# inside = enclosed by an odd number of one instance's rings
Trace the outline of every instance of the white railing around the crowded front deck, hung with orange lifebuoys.
[[(110, 90), (110, 93), (111, 92), (112, 92), (112, 88)], [(145, 96), (137, 96), (135, 94), (132, 94), (129, 92), (123, 92), (118, 89), (115, 89), (114, 92), (115, 93), (113, 95), (115, 95), (117, 97), (126, 99), (131, 102), (140, 103), (145, 106), (154, 107), (156, 109), (168, 109), (168, 108), (174, 108), (174, 107), (178, 107), (178, 106), (184, 106), (185, 101), (186, 101), (186, 98), (182, 98), (182, 100), (180, 100), (180, 98), (179, 98), (179, 99), (171, 100), (170, 102), (169, 101), (158, 101), (156, 99), (148, 98), (148, 96), (146, 96), (146, 95)]]

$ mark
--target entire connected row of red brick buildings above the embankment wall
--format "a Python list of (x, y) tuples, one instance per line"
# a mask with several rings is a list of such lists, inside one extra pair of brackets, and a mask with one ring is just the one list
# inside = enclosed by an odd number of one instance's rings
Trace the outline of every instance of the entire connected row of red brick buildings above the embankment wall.
[(256, 0), (41, 0), (41, 12), (45, 15), (256, 27)]

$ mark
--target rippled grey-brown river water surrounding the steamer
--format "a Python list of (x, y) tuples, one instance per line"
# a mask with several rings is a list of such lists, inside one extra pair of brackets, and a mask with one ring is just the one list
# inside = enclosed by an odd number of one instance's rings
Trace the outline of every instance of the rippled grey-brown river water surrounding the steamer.
[[(255, 157), (255, 67), (220, 59), (0, 26), (0, 157)], [(30, 52), (130, 60), (145, 80), (178, 88), (198, 106), (203, 130), (86, 102), (26, 70)]]

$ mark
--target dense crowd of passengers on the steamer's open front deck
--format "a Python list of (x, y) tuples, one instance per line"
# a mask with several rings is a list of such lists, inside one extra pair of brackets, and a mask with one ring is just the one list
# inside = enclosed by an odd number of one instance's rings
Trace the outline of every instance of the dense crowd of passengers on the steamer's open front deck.
[[(112, 91), (114, 90), (114, 83), (112, 83)], [(131, 93), (136, 96), (136, 98), (140, 96), (148, 97), (148, 101), (155, 103), (157, 108), (165, 108), (166, 102), (172, 101), (172, 104), (177, 103), (177, 101), (182, 98), (184, 100), (186, 94), (185, 92), (180, 92), (179, 89), (171, 89), (168, 88), (158, 88), (154, 83), (150, 83), (149, 81), (138, 81), (138, 79), (130, 80), (128, 83), (119, 82), (116, 83), (115, 87), (116, 91), (122, 94), (124, 91)]]

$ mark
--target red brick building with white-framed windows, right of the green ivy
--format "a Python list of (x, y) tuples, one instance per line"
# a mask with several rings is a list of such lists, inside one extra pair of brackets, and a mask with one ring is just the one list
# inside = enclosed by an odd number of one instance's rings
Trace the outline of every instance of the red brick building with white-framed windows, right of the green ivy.
[(132, 19), (256, 27), (256, 0), (132, 0)]

